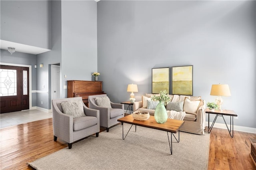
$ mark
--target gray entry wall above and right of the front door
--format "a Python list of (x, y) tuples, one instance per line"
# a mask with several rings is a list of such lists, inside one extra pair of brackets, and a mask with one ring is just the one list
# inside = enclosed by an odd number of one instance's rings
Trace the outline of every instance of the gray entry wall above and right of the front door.
[[(22, 65), (31, 65), (31, 76), (32, 76), (32, 90), (36, 90), (36, 74), (37, 74), (37, 68), (34, 67), (36, 65), (36, 55), (34, 54), (27, 54), (27, 53), (20, 53), (15, 52), (13, 54), (10, 54), (7, 50), (1, 49), (0, 51), (1, 57), (0, 62), (1, 63), (12, 63), (12, 64), (22, 64)], [(38, 65), (39, 67), (39, 65)], [(32, 107), (36, 106), (36, 93), (32, 93)]]

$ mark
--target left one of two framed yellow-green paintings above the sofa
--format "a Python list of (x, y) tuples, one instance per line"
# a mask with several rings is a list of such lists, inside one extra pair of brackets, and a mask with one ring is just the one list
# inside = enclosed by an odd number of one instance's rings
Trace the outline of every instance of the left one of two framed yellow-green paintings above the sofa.
[(170, 67), (152, 69), (152, 93), (170, 93)]

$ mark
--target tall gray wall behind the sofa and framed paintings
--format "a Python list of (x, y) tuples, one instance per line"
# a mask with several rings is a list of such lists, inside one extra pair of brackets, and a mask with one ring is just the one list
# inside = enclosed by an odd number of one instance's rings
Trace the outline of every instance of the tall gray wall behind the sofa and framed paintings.
[[(114, 102), (151, 93), (151, 69), (193, 65), (193, 95), (206, 102), (212, 84), (228, 84), (223, 109), (234, 124), (256, 128), (256, 1), (100, 1), (98, 71)], [(208, 120), (207, 120), (208, 121)], [(212, 120), (210, 120), (212, 121)], [(222, 119), (217, 119), (223, 123)]]

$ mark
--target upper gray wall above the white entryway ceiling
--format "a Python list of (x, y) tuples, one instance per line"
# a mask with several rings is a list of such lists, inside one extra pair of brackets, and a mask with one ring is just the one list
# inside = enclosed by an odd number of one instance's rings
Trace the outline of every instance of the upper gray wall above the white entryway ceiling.
[(1, 40), (51, 49), (50, 1), (0, 3)]

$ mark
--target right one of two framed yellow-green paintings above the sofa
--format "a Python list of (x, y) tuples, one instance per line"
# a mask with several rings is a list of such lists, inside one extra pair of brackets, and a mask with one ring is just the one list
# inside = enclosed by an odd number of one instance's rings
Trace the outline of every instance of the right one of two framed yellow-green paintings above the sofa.
[(172, 67), (172, 94), (193, 95), (193, 65)]

